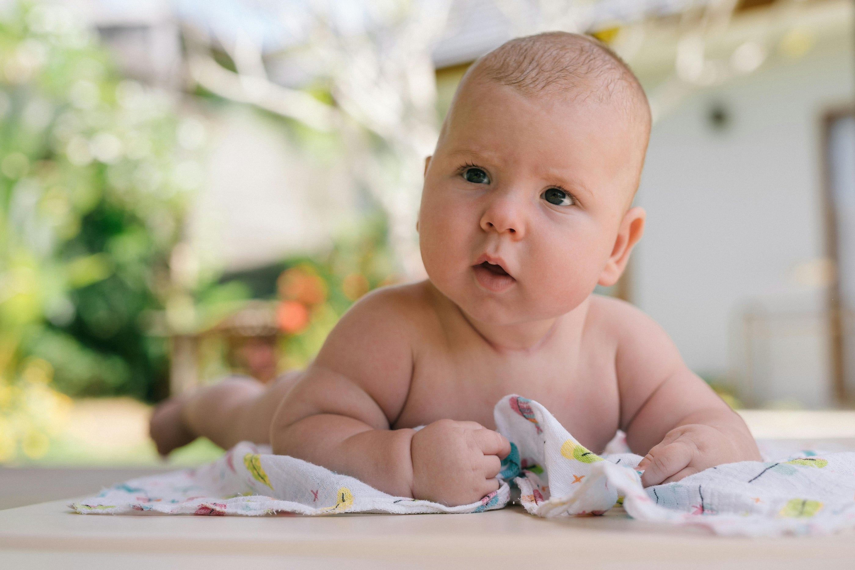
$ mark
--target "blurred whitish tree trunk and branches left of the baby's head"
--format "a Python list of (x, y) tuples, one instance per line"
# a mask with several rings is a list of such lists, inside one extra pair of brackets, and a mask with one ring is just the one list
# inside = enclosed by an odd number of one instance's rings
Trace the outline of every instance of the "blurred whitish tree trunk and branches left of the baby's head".
[[(299, 46), (319, 62), (333, 105), (268, 79), (259, 39), (239, 30), (232, 40), (190, 30), (192, 79), (215, 94), (251, 103), (312, 128), (336, 130), (358, 185), (386, 211), (403, 273), (423, 275), (416, 236), (422, 165), (438, 134), (430, 50), (445, 26), (450, 0), (365, 4), (362, 26), (345, 29), (330, 6), (312, 3), (309, 40)], [(225, 47), (228, 70), (210, 55)]]

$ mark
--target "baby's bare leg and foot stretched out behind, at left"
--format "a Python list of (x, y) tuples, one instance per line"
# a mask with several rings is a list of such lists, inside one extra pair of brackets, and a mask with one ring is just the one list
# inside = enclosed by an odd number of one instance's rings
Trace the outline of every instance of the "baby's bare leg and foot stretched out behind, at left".
[(269, 385), (234, 376), (170, 398), (151, 415), (150, 434), (157, 451), (166, 455), (200, 436), (225, 449), (240, 441), (268, 444), (274, 412), (301, 374), (283, 374)]

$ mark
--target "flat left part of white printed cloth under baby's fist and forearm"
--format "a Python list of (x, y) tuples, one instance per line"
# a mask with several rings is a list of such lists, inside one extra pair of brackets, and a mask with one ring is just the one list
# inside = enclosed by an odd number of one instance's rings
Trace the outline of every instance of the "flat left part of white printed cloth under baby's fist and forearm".
[(70, 507), (86, 514), (475, 513), (502, 508), (509, 498), (507, 483), (460, 507), (392, 497), (358, 479), (242, 442), (209, 465), (131, 479)]

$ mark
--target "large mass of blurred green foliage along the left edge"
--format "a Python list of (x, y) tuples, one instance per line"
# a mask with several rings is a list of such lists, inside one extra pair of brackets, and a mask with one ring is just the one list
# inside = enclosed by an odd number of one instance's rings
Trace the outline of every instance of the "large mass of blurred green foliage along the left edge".
[[(122, 79), (61, 5), (4, 11), (0, 420), (23, 426), (28, 391), (51, 382), (155, 397), (166, 341), (145, 316), (174, 289), (168, 259), (201, 170), (182, 145), (193, 128), (168, 94)], [(7, 447), (30, 430), (11, 424)]]

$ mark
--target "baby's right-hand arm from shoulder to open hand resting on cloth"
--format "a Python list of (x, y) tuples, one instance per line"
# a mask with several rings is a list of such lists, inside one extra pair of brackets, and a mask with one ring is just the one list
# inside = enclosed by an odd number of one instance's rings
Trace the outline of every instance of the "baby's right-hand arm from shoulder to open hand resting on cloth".
[(628, 305), (621, 313), (621, 424), (630, 449), (646, 454), (639, 464), (642, 483), (659, 485), (722, 463), (760, 461), (745, 422), (687, 368), (662, 328)]

